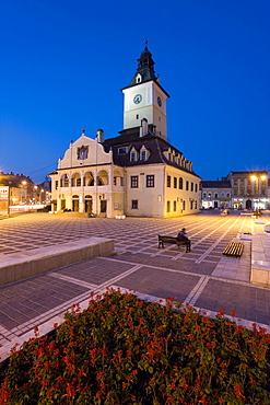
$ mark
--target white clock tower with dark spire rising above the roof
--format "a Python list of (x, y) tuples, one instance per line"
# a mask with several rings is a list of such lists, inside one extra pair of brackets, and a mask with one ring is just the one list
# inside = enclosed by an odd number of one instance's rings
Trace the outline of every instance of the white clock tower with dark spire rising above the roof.
[(169, 95), (160, 84), (155, 76), (152, 54), (145, 48), (138, 59), (137, 72), (130, 84), (121, 89), (124, 93), (124, 129), (141, 126), (146, 118), (153, 125), (154, 132), (167, 139), (166, 100)]

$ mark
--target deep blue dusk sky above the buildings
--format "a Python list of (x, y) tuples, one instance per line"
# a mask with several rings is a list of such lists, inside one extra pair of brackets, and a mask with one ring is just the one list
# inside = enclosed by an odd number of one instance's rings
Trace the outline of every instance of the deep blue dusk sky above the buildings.
[(269, 171), (269, 0), (0, 0), (0, 171), (42, 183), (83, 127), (118, 136), (145, 37), (195, 172)]

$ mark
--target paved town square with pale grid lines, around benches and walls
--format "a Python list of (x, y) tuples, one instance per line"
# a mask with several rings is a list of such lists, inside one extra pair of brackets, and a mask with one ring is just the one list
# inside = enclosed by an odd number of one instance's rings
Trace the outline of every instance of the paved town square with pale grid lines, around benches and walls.
[[(270, 223), (270, 218), (267, 217)], [(157, 248), (157, 234), (176, 235), (187, 228), (192, 241), (185, 247)], [(40, 246), (66, 244), (89, 236), (115, 240), (118, 253), (94, 257), (0, 288), (0, 357), (39, 326), (47, 333), (72, 304), (86, 308), (92, 293), (107, 287), (134, 290), (160, 300), (176, 297), (214, 314), (234, 310), (246, 326), (256, 322), (270, 332), (270, 288), (255, 286), (250, 277), (250, 232), (262, 232), (250, 217), (215, 212), (176, 219), (75, 219), (31, 213), (0, 221), (0, 259), (27, 255)], [(245, 235), (244, 235), (245, 234)], [(226, 244), (244, 238), (242, 258), (222, 256)]]

